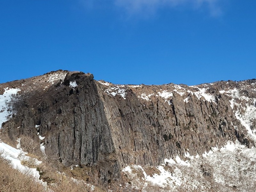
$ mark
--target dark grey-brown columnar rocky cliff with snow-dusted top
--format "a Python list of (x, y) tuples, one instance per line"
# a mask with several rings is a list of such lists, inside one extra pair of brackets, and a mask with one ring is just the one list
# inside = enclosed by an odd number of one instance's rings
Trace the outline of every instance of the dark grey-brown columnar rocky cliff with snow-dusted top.
[(0, 85), (20, 91), (2, 127), (12, 140), (45, 137), (45, 153), (64, 165), (95, 167), (103, 181), (127, 165), (201, 155), (227, 141), (255, 146), (256, 80), (197, 86), (116, 85), (92, 74), (56, 71)]

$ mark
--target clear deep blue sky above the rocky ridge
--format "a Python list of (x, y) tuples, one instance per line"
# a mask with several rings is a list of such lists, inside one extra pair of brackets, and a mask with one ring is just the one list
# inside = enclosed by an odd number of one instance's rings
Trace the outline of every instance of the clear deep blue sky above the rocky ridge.
[(58, 69), (116, 84), (256, 78), (255, 8), (241, 0), (0, 0), (0, 83)]

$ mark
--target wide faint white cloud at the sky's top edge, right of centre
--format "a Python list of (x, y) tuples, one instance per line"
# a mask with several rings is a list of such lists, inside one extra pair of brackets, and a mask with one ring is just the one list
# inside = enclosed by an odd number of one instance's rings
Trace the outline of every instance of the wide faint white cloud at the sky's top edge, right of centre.
[(153, 13), (161, 7), (189, 6), (192, 9), (207, 9), (211, 16), (220, 16), (220, 0), (114, 0), (115, 5), (122, 7), (129, 14)]

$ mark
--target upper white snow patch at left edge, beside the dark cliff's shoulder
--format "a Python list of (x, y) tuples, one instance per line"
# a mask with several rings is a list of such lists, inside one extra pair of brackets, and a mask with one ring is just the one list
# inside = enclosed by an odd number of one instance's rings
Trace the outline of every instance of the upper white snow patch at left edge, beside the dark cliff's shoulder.
[(2, 124), (12, 116), (12, 111), (7, 111), (8, 103), (12, 100), (12, 96), (20, 91), (19, 88), (5, 88), (4, 90), (3, 95), (0, 95), (0, 129), (2, 128)]

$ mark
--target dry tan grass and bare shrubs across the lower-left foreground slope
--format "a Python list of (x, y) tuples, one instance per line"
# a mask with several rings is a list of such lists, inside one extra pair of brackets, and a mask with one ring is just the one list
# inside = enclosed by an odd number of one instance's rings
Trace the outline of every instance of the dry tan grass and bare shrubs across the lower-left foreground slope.
[[(145, 180), (140, 180), (137, 188), (133, 188), (130, 180), (122, 174), (118, 181), (111, 181), (108, 186), (99, 184), (98, 172), (90, 167), (74, 167), (70, 170), (57, 160), (48, 159), (38, 152), (40, 143), (27, 136), (21, 137), (21, 148), (27, 151), (27, 156), (21, 157), (21, 164), (29, 168), (36, 168), (40, 174), (40, 180), (44, 181), (44, 186), (38, 179), (24, 175), (15, 170), (10, 162), (0, 157), (0, 192), (144, 192), (157, 191), (155, 187), (146, 187)], [(40, 149), (39, 149), (40, 150)], [(1, 155), (1, 154), (0, 154)], [(38, 164), (37, 160), (42, 163)], [(155, 172), (154, 168), (148, 168), (148, 174)], [(141, 179), (143, 173), (137, 170), (137, 176)], [(130, 184), (128, 184), (130, 183)], [(45, 186), (47, 184), (47, 187)], [(147, 189), (147, 190), (145, 190)]]

